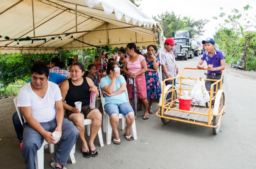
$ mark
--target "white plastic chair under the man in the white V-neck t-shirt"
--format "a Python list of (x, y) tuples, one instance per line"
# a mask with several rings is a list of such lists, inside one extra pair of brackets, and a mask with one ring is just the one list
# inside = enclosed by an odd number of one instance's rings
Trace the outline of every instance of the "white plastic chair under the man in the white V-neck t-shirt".
[[(20, 112), (20, 109), (17, 107), (17, 97), (15, 97), (13, 99), (16, 111), (18, 113), (19, 119), (21, 121), (21, 124), (23, 124), (22, 122), (22, 114)], [(36, 151), (35, 153), (35, 167), (36, 169), (44, 169), (44, 145), (49, 144), (46, 140), (44, 140), (42, 146), (40, 147), (39, 150)], [(72, 148), (72, 150), (74, 149), (74, 147)], [(70, 158), (71, 158), (71, 162), (72, 164), (75, 163), (75, 156), (74, 156), (74, 152), (71, 150), (70, 152)], [(52, 154), (54, 152), (54, 144), (49, 144), (49, 152)]]

